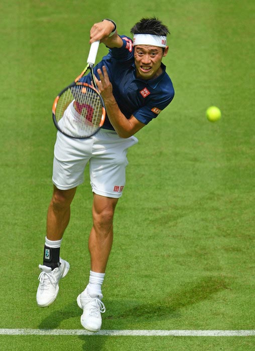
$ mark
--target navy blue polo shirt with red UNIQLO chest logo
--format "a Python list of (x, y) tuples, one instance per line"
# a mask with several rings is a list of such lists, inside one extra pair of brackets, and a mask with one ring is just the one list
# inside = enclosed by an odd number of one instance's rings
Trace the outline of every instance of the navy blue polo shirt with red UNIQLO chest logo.
[[(109, 49), (108, 55), (94, 67), (94, 73), (98, 78), (96, 70), (105, 66), (120, 111), (127, 119), (134, 115), (140, 122), (148, 124), (172, 101), (173, 84), (163, 63), (163, 73), (159, 77), (151, 80), (136, 78), (133, 42), (128, 37), (120, 37), (122, 47)], [(90, 74), (81, 81), (90, 84)], [(107, 115), (103, 128), (113, 130)]]

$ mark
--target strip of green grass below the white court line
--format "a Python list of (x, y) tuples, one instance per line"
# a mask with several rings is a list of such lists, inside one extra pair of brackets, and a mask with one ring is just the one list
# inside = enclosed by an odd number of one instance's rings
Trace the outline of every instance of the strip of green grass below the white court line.
[[(21, 337), (12, 336), (12, 338), (3, 339), (8, 341), (5, 345), (6, 350), (37, 350), (42, 349), (42, 345), (46, 345), (45, 336), (26, 336), (21, 342)], [(136, 351), (156, 351), (166, 350), (196, 350), (196, 351), (240, 351), (252, 350), (252, 338), (245, 337), (227, 337), (226, 342), (222, 342), (220, 337), (164, 337), (164, 336), (77, 336), (74, 340), (70, 336), (49, 336), (47, 341), (49, 346), (57, 345), (59, 350), (136, 350)], [(39, 346), (39, 348), (38, 348)], [(75, 347), (75, 348), (74, 348)]]

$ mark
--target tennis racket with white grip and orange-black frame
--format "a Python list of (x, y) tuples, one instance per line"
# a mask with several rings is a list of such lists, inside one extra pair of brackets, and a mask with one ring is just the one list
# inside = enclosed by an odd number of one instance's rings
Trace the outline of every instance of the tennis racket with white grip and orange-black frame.
[[(87, 66), (73, 83), (63, 89), (52, 107), (55, 126), (63, 134), (72, 138), (88, 138), (94, 135), (104, 123), (105, 107), (103, 99), (96, 90), (93, 67), (99, 41), (91, 44)], [(93, 85), (79, 82), (88, 71)]]

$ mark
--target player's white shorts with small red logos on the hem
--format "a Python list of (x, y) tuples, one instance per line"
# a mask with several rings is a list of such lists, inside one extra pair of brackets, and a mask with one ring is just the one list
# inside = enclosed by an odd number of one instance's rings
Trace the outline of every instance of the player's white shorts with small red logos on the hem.
[(87, 139), (74, 139), (57, 132), (53, 160), (53, 184), (60, 190), (84, 182), (89, 161), (92, 192), (108, 198), (120, 198), (125, 185), (127, 149), (135, 145), (135, 136), (120, 138), (115, 131), (101, 128)]

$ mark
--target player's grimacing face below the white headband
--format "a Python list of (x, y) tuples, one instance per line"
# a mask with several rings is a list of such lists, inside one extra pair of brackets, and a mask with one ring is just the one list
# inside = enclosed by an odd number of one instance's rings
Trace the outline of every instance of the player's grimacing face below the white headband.
[(152, 79), (162, 73), (161, 61), (167, 55), (168, 47), (163, 49), (158, 46), (136, 45), (135, 46), (135, 65), (137, 78)]

